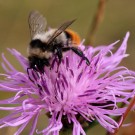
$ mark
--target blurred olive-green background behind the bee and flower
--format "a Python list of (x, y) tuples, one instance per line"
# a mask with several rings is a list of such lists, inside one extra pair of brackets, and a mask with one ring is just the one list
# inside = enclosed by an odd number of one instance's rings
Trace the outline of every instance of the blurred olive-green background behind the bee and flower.
[[(40, 11), (51, 27), (57, 27), (67, 20), (77, 18), (71, 26), (78, 32), (81, 38), (85, 38), (88, 28), (92, 22), (98, 5), (98, 0), (0, 0), (0, 53), (4, 52), (7, 58), (19, 70), (18, 63), (7, 52), (6, 48), (15, 48), (23, 55), (27, 56), (26, 48), (30, 42), (28, 27), (28, 14), (31, 10)], [(108, 45), (118, 39), (123, 39), (127, 31), (131, 36), (128, 42), (126, 58), (122, 64), (135, 70), (135, 0), (108, 0), (104, 20), (96, 34), (94, 46)], [(0, 58), (0, 61), (2, 59)], [(0, 67), (0, 72), (3, 69)], [(1, 93), (0, 99), (10, 97), (10, 94)], [(5, 112), (4, 112), (5, 113)], [(0, 112), (0, 117), (4, 114)], [(132, 119), (132, 118), (131, 118)], [(41, 122), (42, 126), (45, 122)], [(12, 135), (15, 129), (2, 129), (0, 135)], [(104, 135), (104, 129), (96, 126), (89, 131), (91, 135)], [(27, 135), (27, 130), (22, 135)], [(119, 133), (123, 135), (123, 133)], [(125, 134), (126, 135), (126, 134)]]

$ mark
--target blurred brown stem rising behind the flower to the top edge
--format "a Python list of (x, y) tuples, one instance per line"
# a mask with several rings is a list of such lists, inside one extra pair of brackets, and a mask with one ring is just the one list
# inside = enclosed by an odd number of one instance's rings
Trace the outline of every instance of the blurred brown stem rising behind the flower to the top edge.
[(86, 45), (94, 43), (96, 31), (98, 30), (99, 24), (103, 21), (104, 18), (106, 1), (107, 0), (99, 0), (96, 14), (86, 35)]

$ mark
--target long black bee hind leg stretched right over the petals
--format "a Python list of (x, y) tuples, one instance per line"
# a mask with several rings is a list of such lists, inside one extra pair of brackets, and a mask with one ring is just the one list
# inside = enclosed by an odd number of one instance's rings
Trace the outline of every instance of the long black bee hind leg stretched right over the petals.
[(85, 57), (84, 53), (79, 50), (78, 48), (75, 48), (75, 47), (65, 47), (65, 48), (62, 48), (62, 50), (64, 52), (68, 51), (68, 50), (72, 50), (73, 52), (75, 52), (78, 56), (82, 57), (83, 60), (86, 60), (86, 64), (87, 65), (90, 65), (90, 61), (88, 60), (87, 57)]

